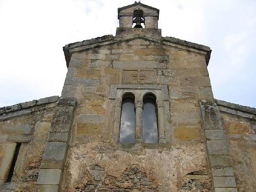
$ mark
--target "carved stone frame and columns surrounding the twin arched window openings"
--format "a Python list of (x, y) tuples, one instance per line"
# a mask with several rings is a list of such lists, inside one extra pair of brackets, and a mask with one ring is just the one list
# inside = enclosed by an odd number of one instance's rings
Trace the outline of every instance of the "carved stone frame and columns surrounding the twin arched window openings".
[(169, 91), (162, 84), (116, 84), (110, 85), (109, 99), (115, 100), (113, 136), (119, 142), (120, 121), (123, 95), (132, 93), (135, 96), (135, 142), (142, 142), (142, 108), (143, 97), (150, 93), (156, 96), (158, 143), (171, 140)]

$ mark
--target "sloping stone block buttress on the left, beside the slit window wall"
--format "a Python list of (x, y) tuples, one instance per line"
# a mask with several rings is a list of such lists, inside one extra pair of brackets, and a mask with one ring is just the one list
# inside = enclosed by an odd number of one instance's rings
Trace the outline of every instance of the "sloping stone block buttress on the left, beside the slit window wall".
[(36, 192), (61, 191), (62, 171), (68, 150), (69, 132), (75, 108), (75, 98), (60, 98), (54, 109), (51, 128), (36, 182)]

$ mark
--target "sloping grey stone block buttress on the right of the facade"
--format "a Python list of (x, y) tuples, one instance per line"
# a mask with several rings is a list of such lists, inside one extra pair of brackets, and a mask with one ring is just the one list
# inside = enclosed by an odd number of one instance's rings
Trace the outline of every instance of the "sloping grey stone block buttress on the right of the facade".
[(237, 192), (220, 110), (216, 104), (207, 101), (201, 101), (200, 108), (206, 137), (207, 156), (212, 173), (213, 191)]

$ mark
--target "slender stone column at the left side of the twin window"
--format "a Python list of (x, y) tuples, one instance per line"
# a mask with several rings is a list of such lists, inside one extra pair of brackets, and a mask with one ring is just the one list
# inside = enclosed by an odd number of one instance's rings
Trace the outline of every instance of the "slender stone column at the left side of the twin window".
[(121, 110), (122, 110), (122, 100), (116, 99), (115, 117), (114, 117), (114, 123), (113, 123), (113, 135), (116, 142), (119, 142)]

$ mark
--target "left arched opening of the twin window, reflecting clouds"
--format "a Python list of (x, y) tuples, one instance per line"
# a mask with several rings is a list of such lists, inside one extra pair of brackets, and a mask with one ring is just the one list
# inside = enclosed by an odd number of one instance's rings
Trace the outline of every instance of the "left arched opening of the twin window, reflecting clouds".
[(135, 107), (132, 93), (123, 96), (121, 111), (119, 142), (132, 143), (135, 140)]

